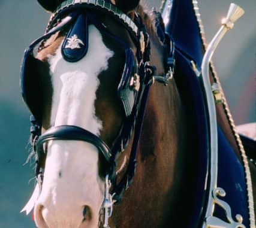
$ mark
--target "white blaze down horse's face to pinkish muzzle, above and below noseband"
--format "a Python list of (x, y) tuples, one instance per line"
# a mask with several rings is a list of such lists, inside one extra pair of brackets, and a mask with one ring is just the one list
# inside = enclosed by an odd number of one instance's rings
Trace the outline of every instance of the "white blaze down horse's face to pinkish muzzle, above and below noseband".
[[(61, 46), (49, 57), (53, 99), (52, 126), (75, 125), (99, 135), (101, 120), (95, 116), (98, 75), (108, 67), (113, 56), (103, 43), (100, 32), (89, 26), (89, 48), (76, 63), (62, 58)], [(83, 206), (92, 209), (92, 223), (97, 227), (103, 202), (104, 181), (98, 176), (98, 151), (81, 141), (52, 141), (47, 151), (43, 190), (38, 203), (50, 228), (78, 228), (83, 220)], [(37, 221), (40, 227), (40, 221)]]

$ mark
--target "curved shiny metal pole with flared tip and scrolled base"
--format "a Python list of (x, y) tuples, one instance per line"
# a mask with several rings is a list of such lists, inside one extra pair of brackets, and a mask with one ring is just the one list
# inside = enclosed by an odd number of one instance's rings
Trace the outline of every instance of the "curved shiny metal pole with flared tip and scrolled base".
[[(244, 227), (242, 224), (242, 216), (237, 215), (236, 221), (231, 218), (231, 211), (227, 205), (222, 206), (221, 200), (218, 196), (225, 196), (225, 191), (217, 187), (217, 177), (218, 177), (218, 132), (217, 132), (217, 120), (216, 120), (216, 109), (215, 109), (215, 99), (213, 98), (212, 86), (210, 84), (210, 74), (209, 74), (209, 63), (212, 59), (213, 53), (218, 47), (219, 42), (224, 37), (226, 32), (233, 28), (234, 22), (238, 20), (244, 11), (236, 4), (231, 4), (227, 13), (227, 17), (222, 20), (222, 26), (213, 37), (212, 41), (207, 47), (206, 53), (203, 57), (203, 62), (201, 65), (201, 78), (203, 80), (203, 85), (206, 94), (207, 110), (209, 114), (209, 128), (210, 128), (210, 186), (208, 191), (207, 208), (205, 220), (203, 223), (203, 228), (214, 228), (214, 227)], [(213, 211), (215, 208), (215, 203), (227, 212), (227, 220), (229, 223), (221, 221), (219, 218), (213, 217)], [(230, 213), (228, 212), (230, 211)], [(223, 224), (226, 224), (223, 226)]]

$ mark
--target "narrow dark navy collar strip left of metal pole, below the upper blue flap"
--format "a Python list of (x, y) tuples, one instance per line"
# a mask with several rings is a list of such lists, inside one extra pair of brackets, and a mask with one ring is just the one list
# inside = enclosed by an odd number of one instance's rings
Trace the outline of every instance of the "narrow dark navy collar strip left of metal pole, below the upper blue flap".
[[(190, 61), (176, 48), (175, 50), (175, 81), (180, 91), (183, 104), (189, 113), (189, 129), (191, 129), (191, 148), (189, 153), (194, 154), (194, 166), (197, 172), (197, 180), (193, 188), (192, 205), (189, 227), (199, 227), (203, 222), (202, 212), (206, 203), (206, 191), (204, 186), (207, 181), (207, 166), (209, 162), (209, 135), (207, 129), (207, 116), (204, 96), (201, 91), (200, 78), (192, 70)], [(193, 189), (194, 190), (194, 189)]]

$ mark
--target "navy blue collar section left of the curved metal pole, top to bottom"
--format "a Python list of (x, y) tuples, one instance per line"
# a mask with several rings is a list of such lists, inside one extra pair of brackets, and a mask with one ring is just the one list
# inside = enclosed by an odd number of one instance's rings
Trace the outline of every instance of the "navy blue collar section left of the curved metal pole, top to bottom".
[(197, 180), (195, 183), (194, 204), (192, 205), (189, 227), (200, 227), (203, 223), (206, 203), (207, 168), (209, 163), (209, 135), (204, 95), (200, 78), (191, 68), (191, 60), (201, 66), (203, 59), (201, 34), (194, 6), (191, 0), (173, 0), (170, 17), (165, 31), (174, 40), (176, 60), (174, 75), (183, 103), (191, 118), (191, 143), (195, 155)]

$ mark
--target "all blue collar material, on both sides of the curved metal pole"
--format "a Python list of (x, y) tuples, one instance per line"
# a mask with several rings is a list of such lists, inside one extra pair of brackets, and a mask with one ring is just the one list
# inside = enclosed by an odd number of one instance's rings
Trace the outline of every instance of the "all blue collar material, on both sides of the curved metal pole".
[[(191, 0), (170, 0), (171, 13), (165, 25), (165, 31), (175, 42), (176, 67), (174, 78), (176, 80), (183, 103), (191, 117), (189, 123), (193, 129), (191, 135), (193, 141), (193, 153), (195, 154), (195, 166), (197, 167), (197, 183), (194, 197), (193, 210), (189, 227), (200, 227), (202, 223), (203, 208), (206, 203), (204, 183), (207, 178), (207, 163), (209, 161), (209, 135), (207, 133), (207, 115), (204, 107), (205, 99), (202, 93), (201, 81), (191, 69), (191, 60), (197, 67), (201, 66), (203, 59), (202, 42), (199, 25), (195, 16)], [(166, 13), (166, 12), (165, 12)], [(218, 128), (218, 187), (226, 191), (226, 196), (221, 200), (227, 202), (232, 211), (232, 217), (241, 214), (243, 224), (248, 224), (248, 205), (245, 185), (245, 173), (233, 148), (231, 148), (225, 135)], [(215, 215), (227, 221), (223, 209), (216, 206)], [(199, 221), (198, 221), (199, 220)]]

